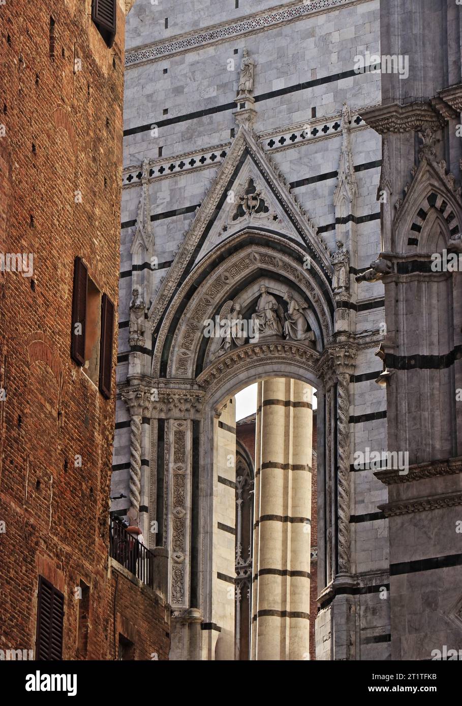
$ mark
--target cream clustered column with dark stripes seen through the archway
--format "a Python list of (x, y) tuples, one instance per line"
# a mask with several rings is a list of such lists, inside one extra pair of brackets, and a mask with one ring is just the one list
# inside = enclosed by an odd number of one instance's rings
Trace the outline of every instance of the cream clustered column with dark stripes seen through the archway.
[(312, 388), (259, 384), (252, 659), (309, 652)]

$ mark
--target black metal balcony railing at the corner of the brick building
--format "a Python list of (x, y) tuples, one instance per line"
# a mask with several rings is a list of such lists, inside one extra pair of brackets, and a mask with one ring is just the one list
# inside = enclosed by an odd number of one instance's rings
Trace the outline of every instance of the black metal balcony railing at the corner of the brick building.
[(126, 531), (118, 517), (112, 517), (109, 552), (113, 559), (134, 574), (146, 586), (154, 588), (154, 554)]

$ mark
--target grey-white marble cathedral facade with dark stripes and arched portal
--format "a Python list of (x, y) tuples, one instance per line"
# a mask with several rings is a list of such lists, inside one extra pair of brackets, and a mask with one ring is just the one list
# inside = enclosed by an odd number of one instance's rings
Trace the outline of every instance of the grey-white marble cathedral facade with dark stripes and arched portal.
[(461, 8), (273, 2), (127, 18), (112, 513), (165, 558), (170, 659), (432, 659), (462, 639), (462, 285), (432, 268)]

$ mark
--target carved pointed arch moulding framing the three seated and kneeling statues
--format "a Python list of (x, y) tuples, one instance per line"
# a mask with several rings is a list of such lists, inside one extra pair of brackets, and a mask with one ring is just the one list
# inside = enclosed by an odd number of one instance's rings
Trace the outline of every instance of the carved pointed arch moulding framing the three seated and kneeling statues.
[(309, 270), (303, 265), (302, 248), (288, 244), (277, 232), (248, 227), (235, 234), (203, 258), (177, 292), (155, 332), (152, 375), (196, 378), (209, 362), (210, 344), (203, 337), (203, 322), (213, 320), (225, 301), (239, 294), (249, 306), (254, 289), (263, 280), (271, 282), (272, 291), (278, 289), (280, 296), (290, 289), (310, 304), (310, 325), (316, 347), (322, 350), (333, 331), (330, 283), (315, 263)]

